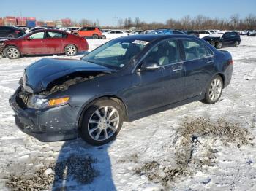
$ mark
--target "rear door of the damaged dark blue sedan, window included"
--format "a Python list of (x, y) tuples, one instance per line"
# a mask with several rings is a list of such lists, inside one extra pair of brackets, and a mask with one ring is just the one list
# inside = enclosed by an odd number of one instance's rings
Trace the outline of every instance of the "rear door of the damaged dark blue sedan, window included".
[(182, 39), (185, 86), (184, 98), (193, 98), (204, 93), (214, 73), (214, 53), (203, 42)]

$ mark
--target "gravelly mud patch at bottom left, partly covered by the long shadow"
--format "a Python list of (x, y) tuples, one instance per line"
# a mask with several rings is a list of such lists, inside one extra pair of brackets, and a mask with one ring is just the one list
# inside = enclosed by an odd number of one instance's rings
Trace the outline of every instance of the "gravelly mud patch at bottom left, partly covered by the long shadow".
[(62, 182), (67, 182), (66, 185), (71, 181), (88, 184), (98, 175), (93, 163), (95, 160), (91, 157), (72, 155), (56, 164), (43, 166), (31, 174), (10, 174), (5, 178), (6, 186), (10, 190), (49, 190), (51, 187), (61, 187)]

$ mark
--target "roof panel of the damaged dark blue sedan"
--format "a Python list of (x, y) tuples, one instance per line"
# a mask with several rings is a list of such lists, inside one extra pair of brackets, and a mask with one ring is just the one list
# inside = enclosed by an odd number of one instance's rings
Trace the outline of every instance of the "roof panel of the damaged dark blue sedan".
[(170, 39), (170, 38), (189, 38), (189, 39), (198, 39), (195, 36), (189, 36), (185, 34), (139, 34), (139, 35), (129, 35), (129, 36), (123, 36), (121, 39), (134, 39), (134, 40), (141, 40), (141, 41), (154, 41), (157, 39)]

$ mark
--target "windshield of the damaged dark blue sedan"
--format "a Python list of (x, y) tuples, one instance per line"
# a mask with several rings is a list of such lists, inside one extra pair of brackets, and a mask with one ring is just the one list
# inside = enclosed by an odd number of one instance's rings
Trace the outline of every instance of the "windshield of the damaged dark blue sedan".
[(114, 39), (85, 55), (82, 60), (111, 69), (121, 69), (135, 58), (148, 42), (136, 39)]

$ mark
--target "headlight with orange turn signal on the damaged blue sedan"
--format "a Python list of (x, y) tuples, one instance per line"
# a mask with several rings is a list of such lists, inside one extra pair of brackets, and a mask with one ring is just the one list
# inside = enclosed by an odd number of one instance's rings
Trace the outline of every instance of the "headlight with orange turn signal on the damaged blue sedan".
[(44, 109), (48, 107), (65, 105), (68, 103), (68, 101), (69, 101), (69, 97), (46, 99), (45, 96), (34, 95), (29, 97), (27, 106), (29, 108), (34, 108), (34, 109)]

